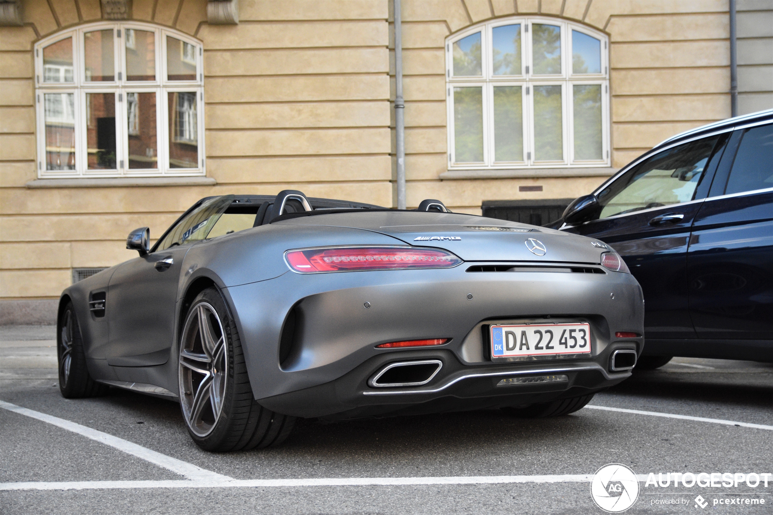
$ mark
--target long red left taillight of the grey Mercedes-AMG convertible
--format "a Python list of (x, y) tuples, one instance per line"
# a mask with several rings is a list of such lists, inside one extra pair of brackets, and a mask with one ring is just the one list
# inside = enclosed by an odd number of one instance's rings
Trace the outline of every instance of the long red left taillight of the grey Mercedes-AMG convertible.
[(295, 272), (354, 272), (412, 268), (451, 268), (461, 259), (436, 249), (412, 247), (337, 247), (289, 250), (284, 254)]

